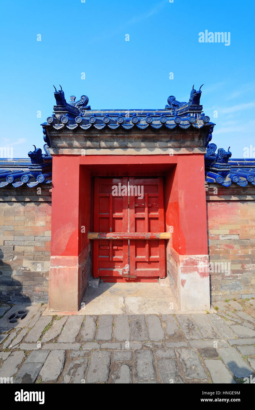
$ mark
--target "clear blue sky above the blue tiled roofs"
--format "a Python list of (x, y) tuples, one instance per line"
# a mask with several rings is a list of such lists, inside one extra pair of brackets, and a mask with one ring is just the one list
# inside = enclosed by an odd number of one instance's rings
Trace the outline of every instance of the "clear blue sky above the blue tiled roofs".
[[(233, 157), (255, 147), (254, 2), (14, 0), (1, 11), (0, 146), (14, 157), (42, 148), (53, 84), (67, 101), (86, 94), (92, 109), (160, 109), (204, 83), (212, 142)], [(230, 32), (230, 45), (199, 43), (205, 30)]]

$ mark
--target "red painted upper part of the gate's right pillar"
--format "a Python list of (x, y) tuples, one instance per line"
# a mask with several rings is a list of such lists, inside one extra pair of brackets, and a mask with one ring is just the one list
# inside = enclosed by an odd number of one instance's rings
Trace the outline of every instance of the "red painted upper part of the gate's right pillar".
[(176, 168), (166, 176), (165, 195), (174, 250), (180, 255), (206, 255), (204, 155), (178, 155)]

